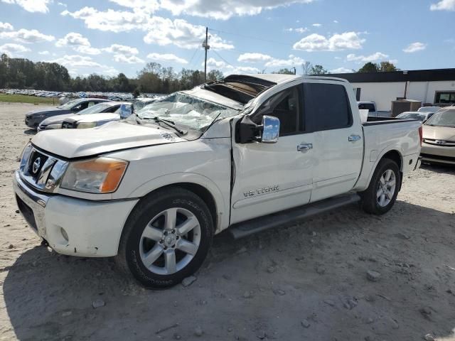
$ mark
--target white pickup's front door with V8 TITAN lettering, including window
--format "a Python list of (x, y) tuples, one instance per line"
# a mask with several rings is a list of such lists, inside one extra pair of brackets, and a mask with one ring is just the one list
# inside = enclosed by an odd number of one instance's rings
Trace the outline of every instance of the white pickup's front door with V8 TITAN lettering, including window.
[(272, 95), (251, 114), (255, 124), (260, 124), (264, 115), (280, 120), (277, 143), (237, 144), (232, 137), (235, 181), (231, 224), (309, 202), (314, 136), (305, 132), (301, 99), (301, 85), (290, 87)]

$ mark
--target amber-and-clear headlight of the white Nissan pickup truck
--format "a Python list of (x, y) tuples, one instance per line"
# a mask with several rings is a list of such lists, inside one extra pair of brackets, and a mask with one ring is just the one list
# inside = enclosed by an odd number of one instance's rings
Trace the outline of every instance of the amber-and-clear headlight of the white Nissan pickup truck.
[(127, 166), (127, 161), (104, 157), (71, 162), (60, 187), (87, 193), (112, 193), (117, 190)]

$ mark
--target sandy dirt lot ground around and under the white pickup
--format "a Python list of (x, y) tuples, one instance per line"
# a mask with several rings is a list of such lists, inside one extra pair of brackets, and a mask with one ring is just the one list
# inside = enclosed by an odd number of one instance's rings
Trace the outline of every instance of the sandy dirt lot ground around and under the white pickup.
[(191, 286), (146, 291), (111, 259), (41, 247), (16, 211), (33, 108), (0, 104), (0, 340), (455, 340), (455, 168), (422, 166), (382, 217), (215, 237)]

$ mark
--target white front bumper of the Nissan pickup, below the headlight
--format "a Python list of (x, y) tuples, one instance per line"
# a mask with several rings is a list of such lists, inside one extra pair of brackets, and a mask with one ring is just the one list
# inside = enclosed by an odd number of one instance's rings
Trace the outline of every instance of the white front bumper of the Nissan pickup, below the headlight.
[(14, 192), (21, 214), (36, 234), (59, 254), (70, 256), (115, 256), (124, 223), (138, 202), (44, 195), (31, 190), (18, 171)]

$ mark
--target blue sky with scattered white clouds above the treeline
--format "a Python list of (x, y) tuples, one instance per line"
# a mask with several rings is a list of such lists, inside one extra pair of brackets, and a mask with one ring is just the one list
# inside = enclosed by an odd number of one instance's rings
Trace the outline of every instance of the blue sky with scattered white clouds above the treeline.
[(455, 0), (0, 0), (0, 53), (70, 75), (135, 77), (146, 63), (273, 72), (455, 67)]

